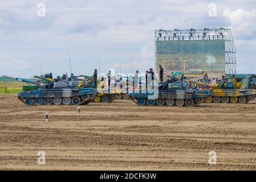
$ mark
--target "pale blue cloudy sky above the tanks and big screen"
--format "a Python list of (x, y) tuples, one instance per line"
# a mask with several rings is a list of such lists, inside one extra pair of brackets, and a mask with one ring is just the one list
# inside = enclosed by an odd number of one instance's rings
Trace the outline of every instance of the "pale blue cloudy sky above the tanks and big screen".
[[(38, 16), (38, 3), (46, 16)], [(216, 3), (216, 16), (209, 4)], [(0, 75), (92, 75), (95, 68), (144, 72), (155, 61), (155, 30), (231, 28), (237, 72), (256, 73), (256, 0), (1, 0)]]

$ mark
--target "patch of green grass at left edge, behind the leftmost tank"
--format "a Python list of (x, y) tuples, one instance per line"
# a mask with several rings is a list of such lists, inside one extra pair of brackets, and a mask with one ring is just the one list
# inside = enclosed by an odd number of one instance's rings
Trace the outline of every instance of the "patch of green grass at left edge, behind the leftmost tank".
[(0, 81), (1, 94), (15, 94), (22, 91), (22, 86), (27, 85), (18, 81)]

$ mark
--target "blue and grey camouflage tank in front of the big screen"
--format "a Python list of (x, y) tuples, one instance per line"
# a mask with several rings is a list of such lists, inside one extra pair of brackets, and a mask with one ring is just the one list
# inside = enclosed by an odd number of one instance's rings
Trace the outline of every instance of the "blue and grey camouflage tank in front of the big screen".
[(188, 89), (188, 82), (161, 82), (156, 85), (158, 87), (159, 97), (156, 100), (149, 100), (148, 96), (153, 93), (136, 93), (135, 91), (129, 92), (128, 96), (137, 105), (158, 105), (158, 106), (196, 106), (204, 102), (205, 98), (210, 96), (206, 90)]

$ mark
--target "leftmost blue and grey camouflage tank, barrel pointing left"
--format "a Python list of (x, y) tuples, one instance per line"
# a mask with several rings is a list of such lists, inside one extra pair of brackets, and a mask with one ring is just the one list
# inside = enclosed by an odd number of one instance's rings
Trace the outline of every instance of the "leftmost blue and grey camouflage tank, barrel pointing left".
[(95, 89), (78, 88), (78, 81), (60, 81), (42, 84), (24, 78), (15, 78), (15, 80), (36, 85), (36, 89), (23, 90), (17, 94), (19, 100), (30, 106), (51, 104), (86, 105), (93, 101), (96, 96)]

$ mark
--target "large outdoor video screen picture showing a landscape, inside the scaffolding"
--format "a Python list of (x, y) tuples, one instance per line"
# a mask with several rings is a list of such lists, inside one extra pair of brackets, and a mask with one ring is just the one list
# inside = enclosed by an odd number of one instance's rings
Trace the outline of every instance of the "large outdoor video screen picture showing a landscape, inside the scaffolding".
[(225, 75), (225, 40), (181, 40), (157, 41), (156, 65), (164, 68), (164, 77), (173, 72), (202, 78), (203, 72), (209, 78)]

